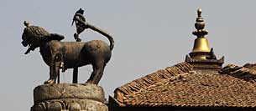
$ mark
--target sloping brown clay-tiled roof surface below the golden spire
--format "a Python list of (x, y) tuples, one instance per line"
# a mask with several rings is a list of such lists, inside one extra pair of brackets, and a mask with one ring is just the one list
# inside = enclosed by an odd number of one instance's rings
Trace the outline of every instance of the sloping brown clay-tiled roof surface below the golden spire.
[(220, 71), (193, 70), (189, 63), (151, 73), (115, 91), (119, 106), (256, 108), (256, 71), (227, 65)]

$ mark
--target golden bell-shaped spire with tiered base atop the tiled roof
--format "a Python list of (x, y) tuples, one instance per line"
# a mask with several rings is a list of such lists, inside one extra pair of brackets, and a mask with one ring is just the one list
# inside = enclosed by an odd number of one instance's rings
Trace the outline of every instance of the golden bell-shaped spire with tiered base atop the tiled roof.
[(205, 38), (208, 32), (204, 29), (205, 23), (203, 18), (201, 18), (201, 9), (197, 9), (197, 18), (195, 23), (196, 31), (193, 35), (196, 35), (194, 41), (194, 47), (189, 55), (185, 56), (185, 62), (191, 63), (194, 69), (206, 69), (219, 70), (222, 68), (222, 63), (224, 63), (224, 57), (217, 59), (213, 48), (210, 49), (208, 40)]

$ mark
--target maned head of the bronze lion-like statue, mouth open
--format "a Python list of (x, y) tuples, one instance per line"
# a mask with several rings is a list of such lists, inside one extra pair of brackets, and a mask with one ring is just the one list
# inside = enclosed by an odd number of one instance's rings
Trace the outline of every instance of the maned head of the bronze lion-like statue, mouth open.
[(35, 48), (39, 47), (40, 38), (50, 35), (44, 28), (40, 28), (38, 26), (29, 26), (28, 22), (24, 22), (26, 28), (24, 28), (24, 33), (22, 34), (22, 44), (24, 47), (28, 47), (27, 53), (30, 50), (34, 51)]

